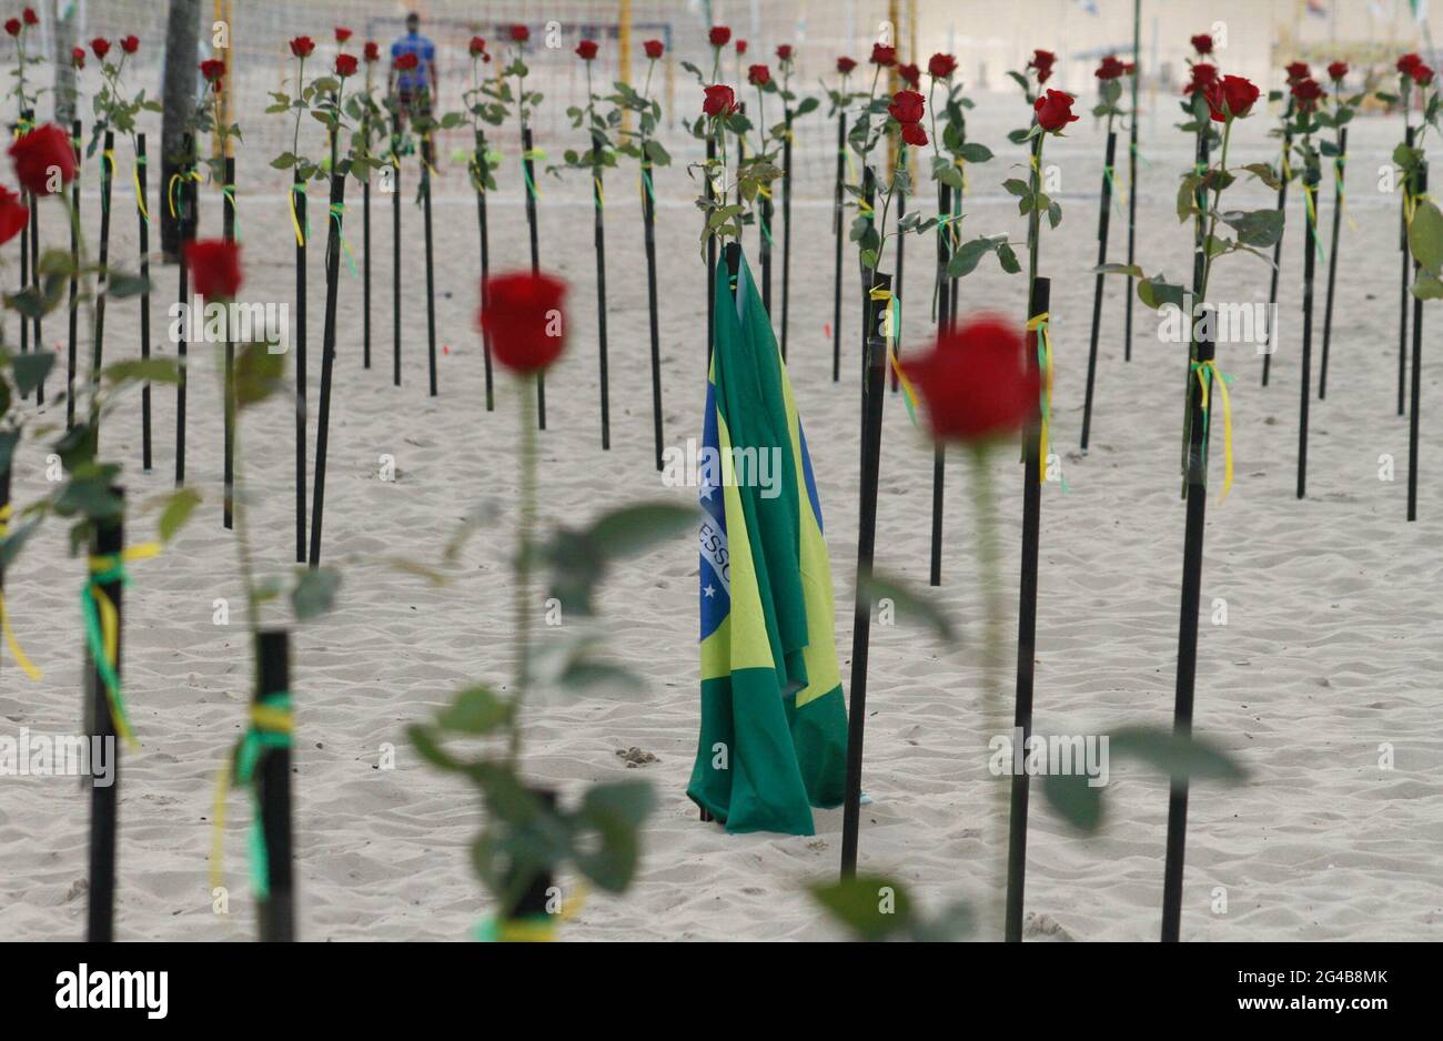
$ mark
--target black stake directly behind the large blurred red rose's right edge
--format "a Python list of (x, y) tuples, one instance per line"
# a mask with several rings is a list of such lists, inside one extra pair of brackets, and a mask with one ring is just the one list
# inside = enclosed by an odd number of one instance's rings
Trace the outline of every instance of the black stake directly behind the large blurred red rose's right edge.
[[(1052, 303), (1052, 280), (1035, 278), (1027, 317), (1048, 313)], [(1027, 366), (1039, 372), (1038, 337), (1040, 330), (1027, 332)], [(1040, 372), (1039, 372), (1040, 375)], [(1017, 705), (1013, 715), (1014, 734), (1023, 747), (1032, 735), (1032, 682), (1038, 653), (1038, 542), (1042, 532), (1042, 411), (1027, 424), (1023, 444), (1022, 489), (1022, 582), (1017, 591)], [(1022, 943), (1023, 888), (1027, 875), (1027, 802), (1032, 794), (1026, 771), (1012, 777), (1012, 813), (1007, 826), (1007, 921), (1004, 939)]]

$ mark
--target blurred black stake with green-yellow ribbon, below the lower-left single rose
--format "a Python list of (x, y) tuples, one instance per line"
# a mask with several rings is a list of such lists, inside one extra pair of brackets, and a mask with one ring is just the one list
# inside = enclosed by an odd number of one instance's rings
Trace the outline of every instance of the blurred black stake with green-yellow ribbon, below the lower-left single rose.
[[(254, 701), (290, 694), (290, 637), (286, 630), (257, 636), (260, 676)], [(296, 939), (296, 885), (291, 871), (290, 744), (263, 745), (255, 763), (255, 802), (266, 836), (266, 888), (260, 903), (260, 937), (266, 943)]]

